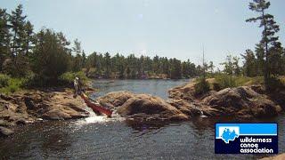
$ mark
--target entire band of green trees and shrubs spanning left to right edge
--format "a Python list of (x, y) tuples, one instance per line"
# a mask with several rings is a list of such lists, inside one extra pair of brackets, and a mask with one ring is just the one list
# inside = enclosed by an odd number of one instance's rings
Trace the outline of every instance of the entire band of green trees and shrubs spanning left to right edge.
[[(264, 76), (265, 85), (276, 83), (273, 81), (275, 77), (285, 75), (285, 50), (275, 35), (280, 30), (279, 26), (273, 15), (265, 12), (269, 5), (265, 1), (249, 4), (250, 10), (262, 12), (260, 16), (247, 20), (260, 21), (260, 27), (265, 28), (262, 39), (253, 51), (248, 49), (240, 56), (228, 55), (220, 64), (223, 70), (215, 69), (213, 61), (195, 65), (190, 60), (157, 55), (135, 57), (134, 53), (128, 56), (111, 53), (111, 56), (110, 52), (86, 54), (79, 40), (69, 41), (62, 32), (50, 28), (36, 32), (23, 13), (21, 4), (12, 12), (0, 9), (0, 91), (14, 92), (20, 87), (72, 84), (76, 76), (83, 81), (87, 79), (86, 76), (112, 79)], [(231, 83), (227, 79), (224, 79), (224, 84)]]

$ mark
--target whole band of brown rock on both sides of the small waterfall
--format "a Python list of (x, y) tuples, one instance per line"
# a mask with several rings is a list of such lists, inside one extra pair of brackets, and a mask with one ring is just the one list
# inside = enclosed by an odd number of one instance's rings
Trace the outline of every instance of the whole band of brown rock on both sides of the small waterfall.
[[(212, 90), (203, 95), (195, 94), (194, 85), (190, 82), (170, 89), (168, 100), (126, 91), (110, 92), (97, 100), (127, 120), (152, 123), (186, 121), (195, 116), (264, 118), (278, 116), (285, 105), (284, 91), (278, 92), (278, 96), (266, 94), (258, 85)], [(11, 135), (17, 124), (86, 116), (89, 113), (84, 101), (73, 98), (70, 89), (0, 94), (0, 137)]]

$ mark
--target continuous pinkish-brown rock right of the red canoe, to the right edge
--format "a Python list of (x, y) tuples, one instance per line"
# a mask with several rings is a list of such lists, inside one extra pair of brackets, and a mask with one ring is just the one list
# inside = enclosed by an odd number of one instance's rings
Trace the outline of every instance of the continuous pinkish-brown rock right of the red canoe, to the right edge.
[(265, 118), (278, 116), (284, 108), (279, 102), (285, 100), (285, 92), (279, 92), (275, 100), (259, 85), (212, 90), (203, 95), (195, 94), (194, 85), (190, 82), (170, 89), (168, 100), (126, 91), (110, 92), (97, 100), (134, 121), (184, 121), (195, 116)]

